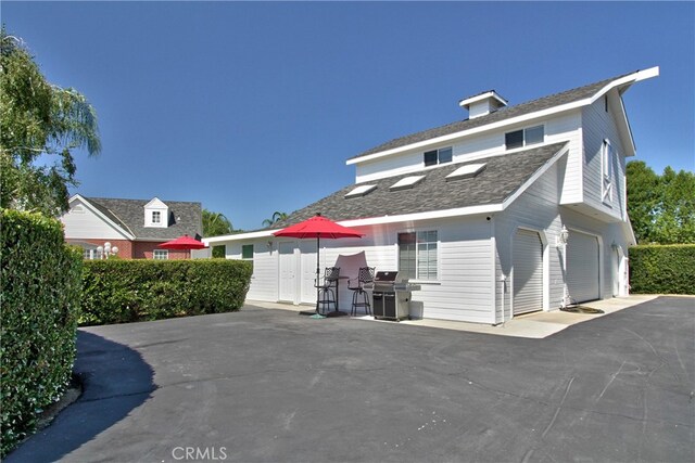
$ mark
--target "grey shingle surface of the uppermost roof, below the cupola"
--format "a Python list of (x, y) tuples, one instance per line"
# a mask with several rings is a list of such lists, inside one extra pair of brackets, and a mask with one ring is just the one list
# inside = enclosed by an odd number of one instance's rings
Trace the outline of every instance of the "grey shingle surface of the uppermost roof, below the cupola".
[(622, 76), (612, 77), (610, 79), (602, 80), (599, 82), (590, 83), (584, 87), (564, 91), (561, 93), (555, 93), (548, 97), (543, 97), (538, 100), (533, 100), (527, 103), (521, 103), (515, 106), (506, 106), (485, 116), (476, 117), (473, 119), (458, 120), (456, 123), (447, 124), (445, 126), (437, 127), (429, 130), (424, 130), (409, 136), (401, 137), (391, 140), (387, 143), (375, 146), (365, 151), (362, 154), (353, 156), (351, 159), (358, 159), (359, 157), (367, 156), (369, 154), (380, 153), (387, 150), (393, 150), (395, 147), (406, 146), (408, 144), (417, 143), (425, 140), (434, 139), (438, 137), (447, 136), (450, 133), (460, 132), (463, 130), (473, 129), (476, 127), (486, 126), (501, 120), (510, 119), (517, 116), (523, 116), (526, 114), (535, 113), (539, 111), (547, 110), (549, 107), (559, 106), (563, 104), (573, 103), (576, 101), (591, 98), (598, 90), (607, 86), (614, 80), (628, 76), (632, 73), (623, 74)]

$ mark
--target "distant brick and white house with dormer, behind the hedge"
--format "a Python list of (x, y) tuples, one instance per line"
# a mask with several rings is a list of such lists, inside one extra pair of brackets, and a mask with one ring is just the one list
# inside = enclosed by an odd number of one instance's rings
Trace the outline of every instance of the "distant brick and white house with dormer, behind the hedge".
[(86, 259), (103, 257), (99, 247), (105, 243), (118, 248), (123, 259), (187, 259), (189, 250), (162, 249), (157, 246), (184, 234), (200, 240), (202, 208), (200, 203), (149, 200), (70, 198), (70, 210), (61, 217), (65, 241), (85, 249)]

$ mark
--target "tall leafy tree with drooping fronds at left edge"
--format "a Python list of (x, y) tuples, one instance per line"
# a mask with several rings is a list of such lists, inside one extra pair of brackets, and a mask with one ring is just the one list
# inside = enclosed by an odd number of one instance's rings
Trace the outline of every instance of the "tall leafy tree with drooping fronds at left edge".
[(3, 26), (0, 206), (50, 216), (66, 211), (67, 189), (77, 185), (75, 149), (84, 149), (90, 156), (101, 151), (94, 108), (76, 90), (46, 80), (23, 41)]

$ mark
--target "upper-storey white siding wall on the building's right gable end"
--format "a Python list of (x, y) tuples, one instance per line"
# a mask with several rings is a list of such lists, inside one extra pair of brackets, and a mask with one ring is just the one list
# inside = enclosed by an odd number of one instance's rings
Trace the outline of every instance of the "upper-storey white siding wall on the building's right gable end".
[[(594, 104), (583, 110), (583, 138), (584, 138), (584, 202), (604, 213), (618, 219), (623, 218), (624, 192), (626, 192), (626, 150), (623, 142), (618, 134), (614, 112), (619, 111), (619, 101), (616, 99), (616, 91), (611, 91), (609, 97), (609, 112), (605, 111), (604, 99), (598, 99)], [(614, 164), (612, 201), (604, 203), (602, 200), (602, 145), (604, 139), (610, 140), (610, 144), (617, 153)]]

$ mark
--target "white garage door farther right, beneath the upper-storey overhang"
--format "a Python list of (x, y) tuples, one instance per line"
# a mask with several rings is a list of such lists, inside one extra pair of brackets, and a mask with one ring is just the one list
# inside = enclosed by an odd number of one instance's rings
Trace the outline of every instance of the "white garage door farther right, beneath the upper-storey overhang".
[(567, 242), (567, 288), (572, 303), (599, 298), (598, 239), (570, 230)]

